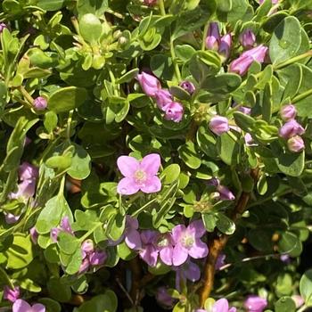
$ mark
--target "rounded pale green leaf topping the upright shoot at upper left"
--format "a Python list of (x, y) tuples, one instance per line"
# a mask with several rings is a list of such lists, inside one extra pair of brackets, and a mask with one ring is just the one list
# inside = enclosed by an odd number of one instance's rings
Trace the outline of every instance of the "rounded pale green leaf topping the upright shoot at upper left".
[(87, 13), (79, 19), (81, 36), (91, 44), (95, 43), (102, 35), (102, 23), (92, 13)]

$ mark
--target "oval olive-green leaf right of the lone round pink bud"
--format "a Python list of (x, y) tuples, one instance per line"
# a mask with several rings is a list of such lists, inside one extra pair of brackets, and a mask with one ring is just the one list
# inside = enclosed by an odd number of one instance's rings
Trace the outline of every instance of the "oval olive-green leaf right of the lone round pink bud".
[(48, 109), (55, 113), (70, 111), (86, 101), (86, 89), (77, 86), (67, 86), (51, 94)]

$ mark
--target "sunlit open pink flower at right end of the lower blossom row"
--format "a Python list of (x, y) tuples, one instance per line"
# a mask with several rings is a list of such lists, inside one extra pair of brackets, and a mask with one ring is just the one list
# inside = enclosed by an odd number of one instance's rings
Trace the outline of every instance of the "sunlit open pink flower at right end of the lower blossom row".
[(201, 259), (208, 255), (206, 243), (200, 240), (205, 233), (206, 229), (201, 220), (193, 221), (187, 227), (178, 225), (172, 229), (172, 238), (175, 242), (172, 256), (174, 266), (184, 264), (188, 256)]

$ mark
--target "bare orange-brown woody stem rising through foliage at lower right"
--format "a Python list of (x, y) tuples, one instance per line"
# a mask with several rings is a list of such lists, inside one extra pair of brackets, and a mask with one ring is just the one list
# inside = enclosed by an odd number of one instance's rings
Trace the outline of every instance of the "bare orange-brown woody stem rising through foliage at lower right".
[[(259, 169), (251, 170), (251, 177), (254, 181), (258, 180)], [(236, 223), (237, 219), (242, 215), (246, 209), (247, 203), (250, 200), (250, 193), (243, 192), (234, 207), (232, 220)], [(214, 233), (212, 239), (209, 240), (209, 255), (206, 260), (206, 264), (203, 272), (203, 286), (200, 289), (200, 305), (204, 306), (205, 301), (209, 298), (210, 292), (212, 291), (213, 284), (215, 281), (215, 267), (219, 254), (226, 247), (226, 242), (229, 239), (229, 235)]]

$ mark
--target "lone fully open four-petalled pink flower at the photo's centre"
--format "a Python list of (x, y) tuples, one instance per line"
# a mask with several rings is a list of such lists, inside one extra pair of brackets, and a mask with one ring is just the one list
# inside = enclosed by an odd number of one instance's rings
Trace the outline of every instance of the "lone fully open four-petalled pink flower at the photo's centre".
[(117, 165), (124, 176), (117, 186), (119, 194), (132, 195), (140, 190), (144, 193), (160, 191), (160, 178), (156, 176), (160, 168), (159, 154), (146, 155), (141, 161), (131, 156), (120, 156)]

